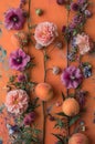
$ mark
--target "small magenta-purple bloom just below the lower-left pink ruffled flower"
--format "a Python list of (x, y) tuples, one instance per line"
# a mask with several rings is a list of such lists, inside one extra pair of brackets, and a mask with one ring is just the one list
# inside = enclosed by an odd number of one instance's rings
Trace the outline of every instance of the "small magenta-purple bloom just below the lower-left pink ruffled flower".
[(23, 123), (24, 125), (30, 125), (35, 120), (35, 112), (31, 112), (25, 115)]

